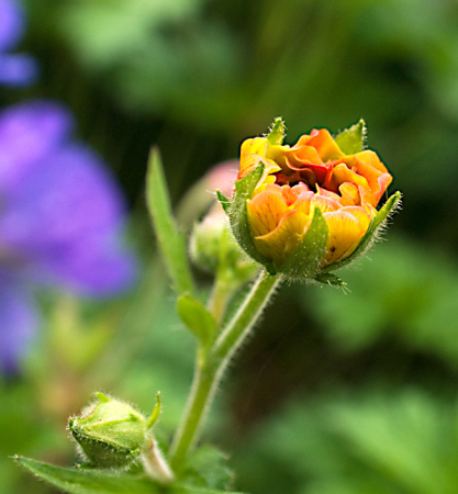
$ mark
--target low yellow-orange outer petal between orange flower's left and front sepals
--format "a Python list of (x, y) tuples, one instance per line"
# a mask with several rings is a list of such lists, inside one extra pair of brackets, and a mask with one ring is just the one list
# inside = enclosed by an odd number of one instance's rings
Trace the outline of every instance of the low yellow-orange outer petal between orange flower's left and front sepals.
[(264, 257), (280, 262), (299, 246), (311, 221), (300, 211), (290, 211), (273, 232), (254, 239), (255, 247)]

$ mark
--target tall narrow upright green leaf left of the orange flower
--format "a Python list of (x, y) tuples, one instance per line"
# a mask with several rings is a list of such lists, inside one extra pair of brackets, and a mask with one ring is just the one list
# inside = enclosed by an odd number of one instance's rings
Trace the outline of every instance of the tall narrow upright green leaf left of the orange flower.
[(149, 154), (146, 203), (176, 292), (193, 294), (196, 290), (187, 259), (185, 238), (171, 214), (163, 161), (157, 148), (153, 148)]

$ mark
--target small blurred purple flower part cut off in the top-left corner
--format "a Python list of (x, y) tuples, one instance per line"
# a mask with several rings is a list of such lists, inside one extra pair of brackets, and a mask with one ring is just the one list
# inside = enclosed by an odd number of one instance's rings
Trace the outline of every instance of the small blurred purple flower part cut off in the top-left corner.
[(24, 31), (24, 12), (15, 0), (0, 0), (0, 83), (26, 86), (36, 77), (37, 65), (26, 54), (7, 53)]

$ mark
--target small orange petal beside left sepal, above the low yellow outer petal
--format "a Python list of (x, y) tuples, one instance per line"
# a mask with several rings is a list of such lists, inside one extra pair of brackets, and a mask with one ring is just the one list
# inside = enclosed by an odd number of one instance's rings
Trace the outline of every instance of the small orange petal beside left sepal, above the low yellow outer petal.
[[(276, 187), (277, 190), (273, 190)], [(288, 213), (288, 205), (279, 186), (269, 186), (247, 201), (248, 223), (255, 237), (266, 235), (277, 228), (280, 220)]]

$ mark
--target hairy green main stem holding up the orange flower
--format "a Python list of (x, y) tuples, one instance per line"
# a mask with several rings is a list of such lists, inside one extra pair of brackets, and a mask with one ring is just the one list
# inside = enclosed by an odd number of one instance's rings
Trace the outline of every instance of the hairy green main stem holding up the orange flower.
[(172, 468), (180, 467), (197, 442), (227, 363), (258, 321), (279, 281), (278, 276), (267, 276), (262, 271), (206, 358), (198, 359), (188, 405), (169, 451)]

